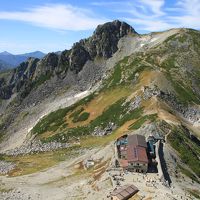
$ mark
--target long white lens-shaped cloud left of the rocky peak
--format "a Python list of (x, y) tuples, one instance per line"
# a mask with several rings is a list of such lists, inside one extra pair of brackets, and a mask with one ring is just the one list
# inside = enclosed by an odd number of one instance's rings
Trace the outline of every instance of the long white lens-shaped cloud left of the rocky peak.
[(58, 30), (94, 29), (107, 19), (98, 18), (90, 10), (71, 5), (49, 4), (21, 12), (0, 12), (0, 19), (28, 22)]

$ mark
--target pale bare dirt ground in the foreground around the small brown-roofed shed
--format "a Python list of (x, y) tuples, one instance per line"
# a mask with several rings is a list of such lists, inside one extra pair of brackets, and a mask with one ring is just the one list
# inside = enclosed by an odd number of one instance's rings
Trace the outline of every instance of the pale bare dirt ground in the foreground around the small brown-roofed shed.
[[(119, 187), (113, 180), (113, 175), (120, 175), (120, 171), (113, 168), (114, 144), (101, 148), (88, 149), (83, 155), (75, 159), (60, 162), (47, 170), (30, 175), (17, 177), (0, 177), (0, 191), (8, 192), (8, 199), (34, 200), (77, 200), (77, 199), (109, 199), (107, 196), (114, 188)], [(84, 169), (86, 160), (93, 160), (95, 166)], [(122, 173), (123, 174), (123, 173)], [(185, 179), (172, 177), (172, 186), (166, 187), (160, 181), (159, 174), (126, 173), (121, 185), (134, 184), (139, 192), (131, 199), (194, 199), (187, 189), (198, 190), (199, 185)], [(186, 188), (187, 186), (187, 188)], [(9, 196), (10, 195), (10, 196)], [(0, 199), (5, 199), (0, 196)], [(13, 198), (14, 196), (14, 198)]]

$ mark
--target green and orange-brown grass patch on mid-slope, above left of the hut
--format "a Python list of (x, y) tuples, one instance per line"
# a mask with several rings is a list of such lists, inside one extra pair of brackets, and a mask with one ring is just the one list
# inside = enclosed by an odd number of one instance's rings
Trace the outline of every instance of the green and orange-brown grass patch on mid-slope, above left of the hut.
[(32, 133), (43, 142), (52, 140), (66, 142), (72, 136), (83, 137), (91, 134), (97, 126), (104, 128), (109, 122), (121, 126), (128, 120), (140, 117), (142, 108), (128, 113), (129, 102), (124, 104), (126, 98), (133, 92), (130, 77), (139, 71), (138, 64), (138, 58), (130, 60), (126, 57), (117, 64), (98, 93), (44, 117), (33, 128)]

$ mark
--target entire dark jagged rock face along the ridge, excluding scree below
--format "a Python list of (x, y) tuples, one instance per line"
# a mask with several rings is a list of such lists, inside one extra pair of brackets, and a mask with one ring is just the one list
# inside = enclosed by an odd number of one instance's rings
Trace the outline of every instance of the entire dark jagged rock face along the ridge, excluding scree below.
[(41, 60), (31, 58), (12, 70), (9, 77), (0, 78), (0, 98), (9, 99), (17, 92), (23, 99), (35, 85), (52, 77), (64, 78), (69, 70), (78, 74), (87, 61), (111, 57), (120, 38), (130, 33), (137, 34), (131, 26), (116, 20), (99, 25), (90, 38), (75, 43), (71, 50), (49, 53)]

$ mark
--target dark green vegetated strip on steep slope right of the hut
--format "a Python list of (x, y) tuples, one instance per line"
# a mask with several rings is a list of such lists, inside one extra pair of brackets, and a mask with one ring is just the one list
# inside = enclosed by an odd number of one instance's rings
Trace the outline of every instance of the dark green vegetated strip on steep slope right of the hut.
[(182, 161), (200, 177), (200, 149), (196, 143), (192, 142), (189, 134), (182, 127), (175, 127), (168, 136), (168, 141), (178, 151)]

